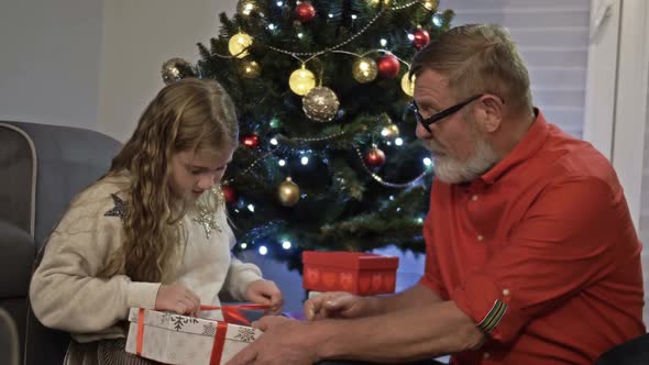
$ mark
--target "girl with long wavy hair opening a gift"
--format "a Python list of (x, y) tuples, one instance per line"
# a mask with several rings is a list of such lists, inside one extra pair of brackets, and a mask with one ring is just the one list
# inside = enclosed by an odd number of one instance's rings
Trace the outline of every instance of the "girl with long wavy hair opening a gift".
[(277, 286), (230, 253), (234, 235), (215, 185), (238, 132), (218, 82), (168, 85), (108, 174), (75, 198), (30, 287), (41, 322), (73, 335), (65, 364), (152, 364), (124, 352), (131, 307), (221, 319), (200, 305), (219, 306), (224, 289), (279, 310)]

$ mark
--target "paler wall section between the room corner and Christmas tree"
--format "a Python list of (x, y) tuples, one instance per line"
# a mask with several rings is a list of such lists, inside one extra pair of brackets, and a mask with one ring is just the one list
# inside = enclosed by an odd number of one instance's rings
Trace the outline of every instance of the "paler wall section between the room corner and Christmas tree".
[(217, 34), (218, 14), (232, 13), (235, 0), (109, 0), (103, 2), (105, 57), (101, 69), (99, 130), (120, 141), (164, 86), (162, 63), (198, 59), (197, 42)]

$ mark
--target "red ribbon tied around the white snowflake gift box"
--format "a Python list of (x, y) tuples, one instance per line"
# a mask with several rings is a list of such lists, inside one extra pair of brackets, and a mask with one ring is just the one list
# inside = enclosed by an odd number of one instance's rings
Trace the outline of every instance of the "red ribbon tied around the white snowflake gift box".
[[(217, 333), (215, 334), (215, 343), (212, 345), (212, 353), (210, 355), (210, 365), (219, 365), (221, 363), (221, 354), (226, 345), (226, 334), (228, 332), (228, 323), (242, 323), (250, 325), (242, 310), (262, 310), (268, 309), (266, 305), (235, 305), (235, 306), (200, 306), (200, 310), (221, 310), (223, 312), (223, 322), (217, 321)], [(144, 308), (140, 308), (138, 312), (138, 339), (135, 344), (135, 353), (142, 356), (142, 344), (144, 343)]]

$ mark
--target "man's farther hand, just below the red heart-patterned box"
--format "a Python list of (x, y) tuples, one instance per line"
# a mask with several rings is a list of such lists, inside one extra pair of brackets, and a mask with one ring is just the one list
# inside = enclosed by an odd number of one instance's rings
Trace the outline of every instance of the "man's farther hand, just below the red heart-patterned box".
[(324, 292), (305, 302), (308, 320), (326, 318), (359, 318), (369, 316), (371, 298), (362, 298), (349, 292)]

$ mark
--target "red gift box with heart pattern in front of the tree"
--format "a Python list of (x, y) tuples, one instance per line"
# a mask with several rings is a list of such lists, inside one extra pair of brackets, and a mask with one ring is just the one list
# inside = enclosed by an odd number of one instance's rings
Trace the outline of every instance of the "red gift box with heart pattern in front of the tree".
[(302, 287), (360, 296), (395, 291), (398, 257), (360, 252), (302, 252)]

